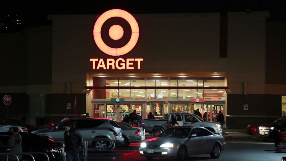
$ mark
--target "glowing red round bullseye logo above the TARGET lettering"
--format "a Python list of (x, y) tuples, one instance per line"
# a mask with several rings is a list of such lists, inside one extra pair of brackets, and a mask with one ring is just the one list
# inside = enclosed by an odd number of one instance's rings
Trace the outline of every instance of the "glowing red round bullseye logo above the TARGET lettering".
[[(112, 21), (112, 18), (120, 18), (123, 19), (121, 21), (127, 21), (127, 23), (130, 25), (128, 26), (131, 28), (131, 35), (129, 41), (121, 47), (114, 47), (106, 44), (106, 41), (103, 40), (103, 35), (105, 32), (103, 32), (103, 26)], [(108, 26), (108, 25), (106, 25)], [(119, 24), (109, 23), (109, 30), (106, 32), (108, 33), (109, 37), (113, 41), (120, 41), (120, 39), (123, 39), (124, 34), (124, 27), (120, 26)], [(114, 9), (114, 10), (108, 10), (104, 12), (94, 24), (93, 27), (93, 38), (98, 46), (98, 48), (103, 51), (104, 53), (112, 56), (120, 56), (128, 53), (130, 50), (133, 49), (133, 47), (136, 45), (138, 38), (139, 38), (139, 27), (138, 23), (135, 20), (135, 18), (129, 14), (128, 12), (120, 9)], [(129, 38), (129, 37), (127, 37)]]

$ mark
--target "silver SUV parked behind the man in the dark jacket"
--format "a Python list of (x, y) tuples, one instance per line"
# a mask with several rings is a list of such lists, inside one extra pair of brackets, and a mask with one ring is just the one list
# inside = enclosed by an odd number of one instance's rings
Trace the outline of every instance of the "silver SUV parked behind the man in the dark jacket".
[[(108, 138), (112, 140), (115, 145), (119, 145), (124, 141), (122, 137), (122, 130), (119, 125), (112, 119), (105, 118), (76, 118), (68, 119), (48, 129), (39, 129), (32, 131), (32, 133), (53, 138), (55, 140), (64, 140), (64, 125), (70, 123), (72, 128), (75, 128), (83, 136), (83, 139), (93, 138)], [(88, 141), (89, 146), (104, 147), (108, 146), (108, 141), (97, 140)]]

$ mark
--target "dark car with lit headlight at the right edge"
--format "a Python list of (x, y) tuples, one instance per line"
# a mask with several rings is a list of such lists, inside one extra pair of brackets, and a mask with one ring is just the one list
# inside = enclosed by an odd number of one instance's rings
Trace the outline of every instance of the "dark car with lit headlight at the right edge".
[[(272, 123), (266, 123), (259, 127), (259, 136), (260, 138), (263, 138), (264, 141), (269, 139), (269, 132), (274, 128), (274, 126), (277, 124), (277, 120), (273, 121)], [(279, 118), (279, 120), (282, 120), (282, 127), (284, 130), (286, 130), (286, 116)]]

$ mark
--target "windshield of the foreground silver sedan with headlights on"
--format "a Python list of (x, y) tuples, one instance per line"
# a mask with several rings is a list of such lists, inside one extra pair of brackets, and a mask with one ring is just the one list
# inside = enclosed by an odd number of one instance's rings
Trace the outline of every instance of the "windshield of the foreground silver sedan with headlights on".
[(161, 133), (158, 137), (187, 138), (189, 133), (190, 133), (189, 128), (168, 128), (163, 133)]

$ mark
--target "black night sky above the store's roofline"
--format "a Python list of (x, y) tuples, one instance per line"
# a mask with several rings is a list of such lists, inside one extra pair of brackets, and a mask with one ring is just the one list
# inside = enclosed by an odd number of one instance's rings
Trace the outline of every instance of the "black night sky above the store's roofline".
[(23, 1), (2, 0), (0, 21), (5, 15), (17, 15), (26, 27), (48, 25), (48, 14), (102, 14), (110, 9), (123, 9), (131, 14), (204, 13), (234, 11), (270, 11), (271, 21), (286, 22), (285, 0), (80, 0)]

